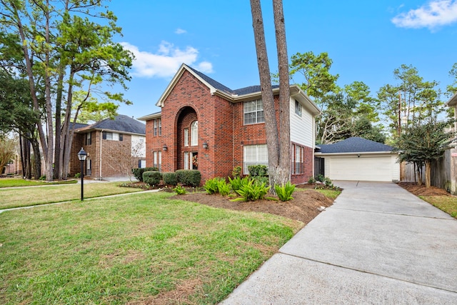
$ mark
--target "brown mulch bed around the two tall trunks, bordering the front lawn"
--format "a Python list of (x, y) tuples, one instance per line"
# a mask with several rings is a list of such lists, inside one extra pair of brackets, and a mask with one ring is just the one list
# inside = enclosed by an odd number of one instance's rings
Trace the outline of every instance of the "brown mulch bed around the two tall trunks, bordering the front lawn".
[(255, 211), (295, 219), (308, 224), (314, 217), (321, 213), (321, 206), (328, 207), (333, 200), (313, 189), (296, 189), (292, 194), (291, 201), (231, 201), (231, 198), (220, 195), (209, 195), (206, 193), (192, 193), (176, 195), (171, 199), (194, 201), (216, 208), (232, 209), (237, 211)]

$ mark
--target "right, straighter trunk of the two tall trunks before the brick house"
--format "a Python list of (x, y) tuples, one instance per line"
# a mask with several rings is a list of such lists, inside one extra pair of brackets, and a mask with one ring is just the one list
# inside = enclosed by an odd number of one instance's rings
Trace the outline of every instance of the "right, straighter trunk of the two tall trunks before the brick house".
[(286, 25), (282, 0), (273, 0), (273, 15), (276, 49), (278, 51), (279, 129), (281, 131), (277, 184), (286, 184), (291, 179), (291, 91), (289, 88)]

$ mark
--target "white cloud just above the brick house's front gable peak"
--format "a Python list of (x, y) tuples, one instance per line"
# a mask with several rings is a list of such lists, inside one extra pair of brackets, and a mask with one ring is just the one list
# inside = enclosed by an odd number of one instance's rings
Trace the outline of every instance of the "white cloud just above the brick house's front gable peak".
[(156, 54), (146, 51), (140, 51), (137, 46), (127, 42), (121, 43), (125, 49), (128, 49), (135, 55), (133, 63), (133, 74), (139, 77), (161, 77), (168, 79), (174, 76), (181, 64), (196, 66), (199, 71), (211, 73), (213, 66), (208, 61), (197, 62), (199, 50), (187, 46), (181, 50), (167, 41), (162, 41)]

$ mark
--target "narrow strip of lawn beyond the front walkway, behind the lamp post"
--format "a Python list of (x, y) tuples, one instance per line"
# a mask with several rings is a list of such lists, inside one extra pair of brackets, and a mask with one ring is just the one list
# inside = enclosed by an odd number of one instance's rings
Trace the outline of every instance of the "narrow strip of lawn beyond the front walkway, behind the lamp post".
[[(119, 182), (84, 184), (84, 199), (141, 191), (141, 189), (118, 187), (118, 185)], [(81, 184), (0, 189), (0, 209), (73, 200), (81, 201)]]

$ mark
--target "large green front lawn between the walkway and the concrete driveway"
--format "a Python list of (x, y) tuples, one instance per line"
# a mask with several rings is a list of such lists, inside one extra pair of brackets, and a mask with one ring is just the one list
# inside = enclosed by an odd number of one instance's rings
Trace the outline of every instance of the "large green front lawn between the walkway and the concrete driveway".
[(173, 195), (0, 214), (0, 304), (216, 304), (303, 226)]

